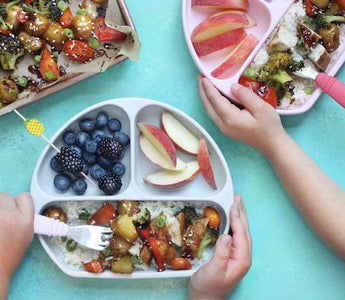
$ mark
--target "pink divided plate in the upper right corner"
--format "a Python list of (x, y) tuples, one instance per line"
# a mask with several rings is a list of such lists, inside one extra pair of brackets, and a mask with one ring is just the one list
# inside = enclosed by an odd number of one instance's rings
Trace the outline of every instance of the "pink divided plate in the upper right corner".
[[(192, 59), (199, 71), (207, 77), (224, 96), (230, 99), (233, 98), (230, 90), (232, 83), (238, 82), (241, 74), (243, 74), (247, 66), (270, 36), (271, 32), (275, 29), (279, 21), (294, 2), (294, 0), (249, 0), (248, 14), (254, 17), (257, 25), (252, 28), (246, 28), (246, 32), (248, 34), (253, 34), (259, 40), (259, 43), (234, 76), (227, 79), (217, 79), (211, 75), (211, 72), (225, 59), (227, 55), (226, 49), (200, 59), (194, 50), (190, 38), (193, 29), (215, 10), (193, 8), (191, 5), (192, 0), (183, 0), (182, 21), (185, 40)], [(343, 41), (344, 40), (345, 37), (343, 38)], [(345, 42), (343, 42), (340, 47), (342, 48), (342, 50), (339, 51), (339, 53), (341, 53), (340, 57), (334, 60), (326, 70), (329, 75), (334, 76), (345, 62)], [(304, 113), (314, 105), (321, 93), (321, 89), (317, 88), (310, 96), (309, 100), (303, 105), (291, 106), (288, 109), (277, 109), (277, 112), (280, 115), (296, 115)]]

